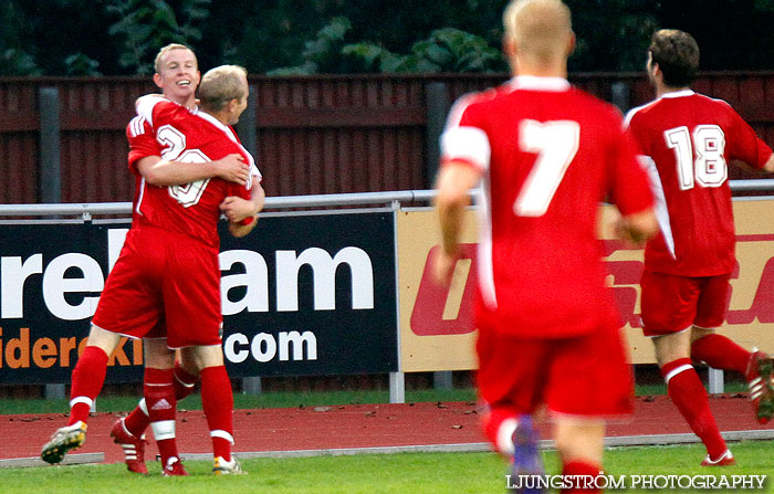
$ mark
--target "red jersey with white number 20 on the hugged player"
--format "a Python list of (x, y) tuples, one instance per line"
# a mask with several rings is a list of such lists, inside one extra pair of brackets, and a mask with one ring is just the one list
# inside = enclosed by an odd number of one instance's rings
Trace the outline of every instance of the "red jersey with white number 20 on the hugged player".
[[(254, 160), (239, 143), (233, 130), (212, 116), (191, 111), (158, 95), (143, 96), (137, 103), (138, 116), (127, 128), (129, 168), (135, 175), (139, 158), (159, 154), (163, 159), (181, 162), (207, 162), (239, 153), (252, 168), (247, 187), (220, 178), (199, 180), (186, 186), (154, 187), (140, 180), (135, 198), (136, 223), (185, 233), (217, 248), (220, 244), (217, 222), (220, 203), (228, 196), (250, 199), (250, 188), (261, 179)], [(155, 130), (155, 140), (148, 130)]]

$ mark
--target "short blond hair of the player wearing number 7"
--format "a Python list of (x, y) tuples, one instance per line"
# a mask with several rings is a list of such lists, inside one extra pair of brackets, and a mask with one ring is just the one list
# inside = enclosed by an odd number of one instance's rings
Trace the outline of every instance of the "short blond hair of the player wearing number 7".
[(503, 25), (522, 53), (542, 62), (566, 56), (573, 35), (569, 8), (562, 0), (512, 0)]

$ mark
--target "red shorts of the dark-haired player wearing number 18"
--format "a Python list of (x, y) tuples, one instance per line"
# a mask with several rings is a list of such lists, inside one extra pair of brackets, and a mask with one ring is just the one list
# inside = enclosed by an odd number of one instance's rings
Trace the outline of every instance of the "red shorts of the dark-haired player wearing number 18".
[(642, 333), (660, 336), (699, 326), (711, 329), (725, 320), (730, 274), (678, 276), (642, 272)]

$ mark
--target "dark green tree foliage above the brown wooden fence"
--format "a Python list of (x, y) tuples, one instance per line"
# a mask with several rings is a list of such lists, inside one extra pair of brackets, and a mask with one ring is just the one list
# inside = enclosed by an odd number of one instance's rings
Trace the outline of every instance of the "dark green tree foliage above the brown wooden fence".
[[(774, 67), (774, 0), (565, 0), (573, 72), (641, 71), (658, 28), (692, 33), (702, 70)], [(149, 73), (190, 45), (202, 70), (505, 71), (508, 0), (0, 0), (0, 75)]]

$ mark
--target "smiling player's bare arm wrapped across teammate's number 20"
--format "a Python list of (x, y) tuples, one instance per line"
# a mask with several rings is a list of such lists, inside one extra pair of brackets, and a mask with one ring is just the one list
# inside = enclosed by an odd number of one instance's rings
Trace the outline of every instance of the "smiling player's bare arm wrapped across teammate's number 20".
[(179, 162), (148, 156), (137, 161), (137, 170), (151, 186), (181, 186), (208, 178), (243, 186), (250, 178), (250, 165), (239, 154), (231, 154), (209, 162)]

